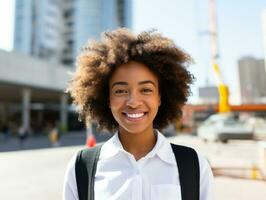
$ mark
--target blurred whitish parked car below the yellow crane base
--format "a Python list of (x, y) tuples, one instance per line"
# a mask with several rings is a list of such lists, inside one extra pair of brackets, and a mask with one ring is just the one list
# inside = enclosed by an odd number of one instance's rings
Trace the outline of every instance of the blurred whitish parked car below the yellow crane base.
[(204, 141), (252, 139), (253, 128), (249, 123), (240, 121), (233, 113), (214, 114), (197, 128), (197, 135)]

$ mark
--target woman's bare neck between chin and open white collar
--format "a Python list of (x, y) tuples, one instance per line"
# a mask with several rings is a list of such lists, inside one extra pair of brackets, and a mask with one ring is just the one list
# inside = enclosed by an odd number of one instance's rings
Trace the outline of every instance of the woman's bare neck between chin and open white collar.
[(152, 150), (157, 137), (153, 129), (143, 133), (128, 133), (119, 130), (119, 139), (123, 148), (139, 160)]

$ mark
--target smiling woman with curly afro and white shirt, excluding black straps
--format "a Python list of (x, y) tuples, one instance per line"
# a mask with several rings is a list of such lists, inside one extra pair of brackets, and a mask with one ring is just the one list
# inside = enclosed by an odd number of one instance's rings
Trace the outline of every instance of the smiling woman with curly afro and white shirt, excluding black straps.
[[(191, 62), (169, 38), (150, 31), (106, 32), (90, 42), (77, 60), (69, 87), (79, 114), (114, 136), (100, 150), (94, 198), (181, 199), (177, 163), (159, 131), (182, 115), (193, 76)], [(200, 200), (212, 200), (212, 173), (198, 155)], [(76, 156), (70, 161), (64, 199), (78, 200)]]

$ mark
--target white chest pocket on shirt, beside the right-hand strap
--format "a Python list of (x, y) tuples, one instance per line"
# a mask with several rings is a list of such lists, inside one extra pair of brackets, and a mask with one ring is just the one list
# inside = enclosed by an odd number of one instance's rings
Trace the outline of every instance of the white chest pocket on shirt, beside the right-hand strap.
[(181, 200), (179, 185), (159, 184), (151, 185), (151, 200)]

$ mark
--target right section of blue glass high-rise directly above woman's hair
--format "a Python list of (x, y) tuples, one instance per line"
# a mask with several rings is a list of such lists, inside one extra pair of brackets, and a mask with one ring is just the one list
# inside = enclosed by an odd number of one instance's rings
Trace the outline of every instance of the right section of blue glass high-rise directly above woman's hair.
[(103, 31), (117, 27), (130, 28), (132, 26), (131, 3), (131, 0), (76, 1), (74, 49), (78, 50), (88, 39), (99, 39)]

